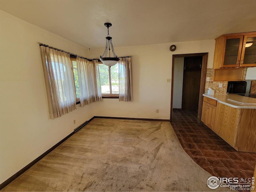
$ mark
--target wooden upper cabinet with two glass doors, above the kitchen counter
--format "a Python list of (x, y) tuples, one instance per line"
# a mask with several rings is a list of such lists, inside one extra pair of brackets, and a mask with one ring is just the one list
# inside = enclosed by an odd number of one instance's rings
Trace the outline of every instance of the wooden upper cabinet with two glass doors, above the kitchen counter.
[(215, 40), (214, 69), (256, 66), (256, 32), (225, 34)]

